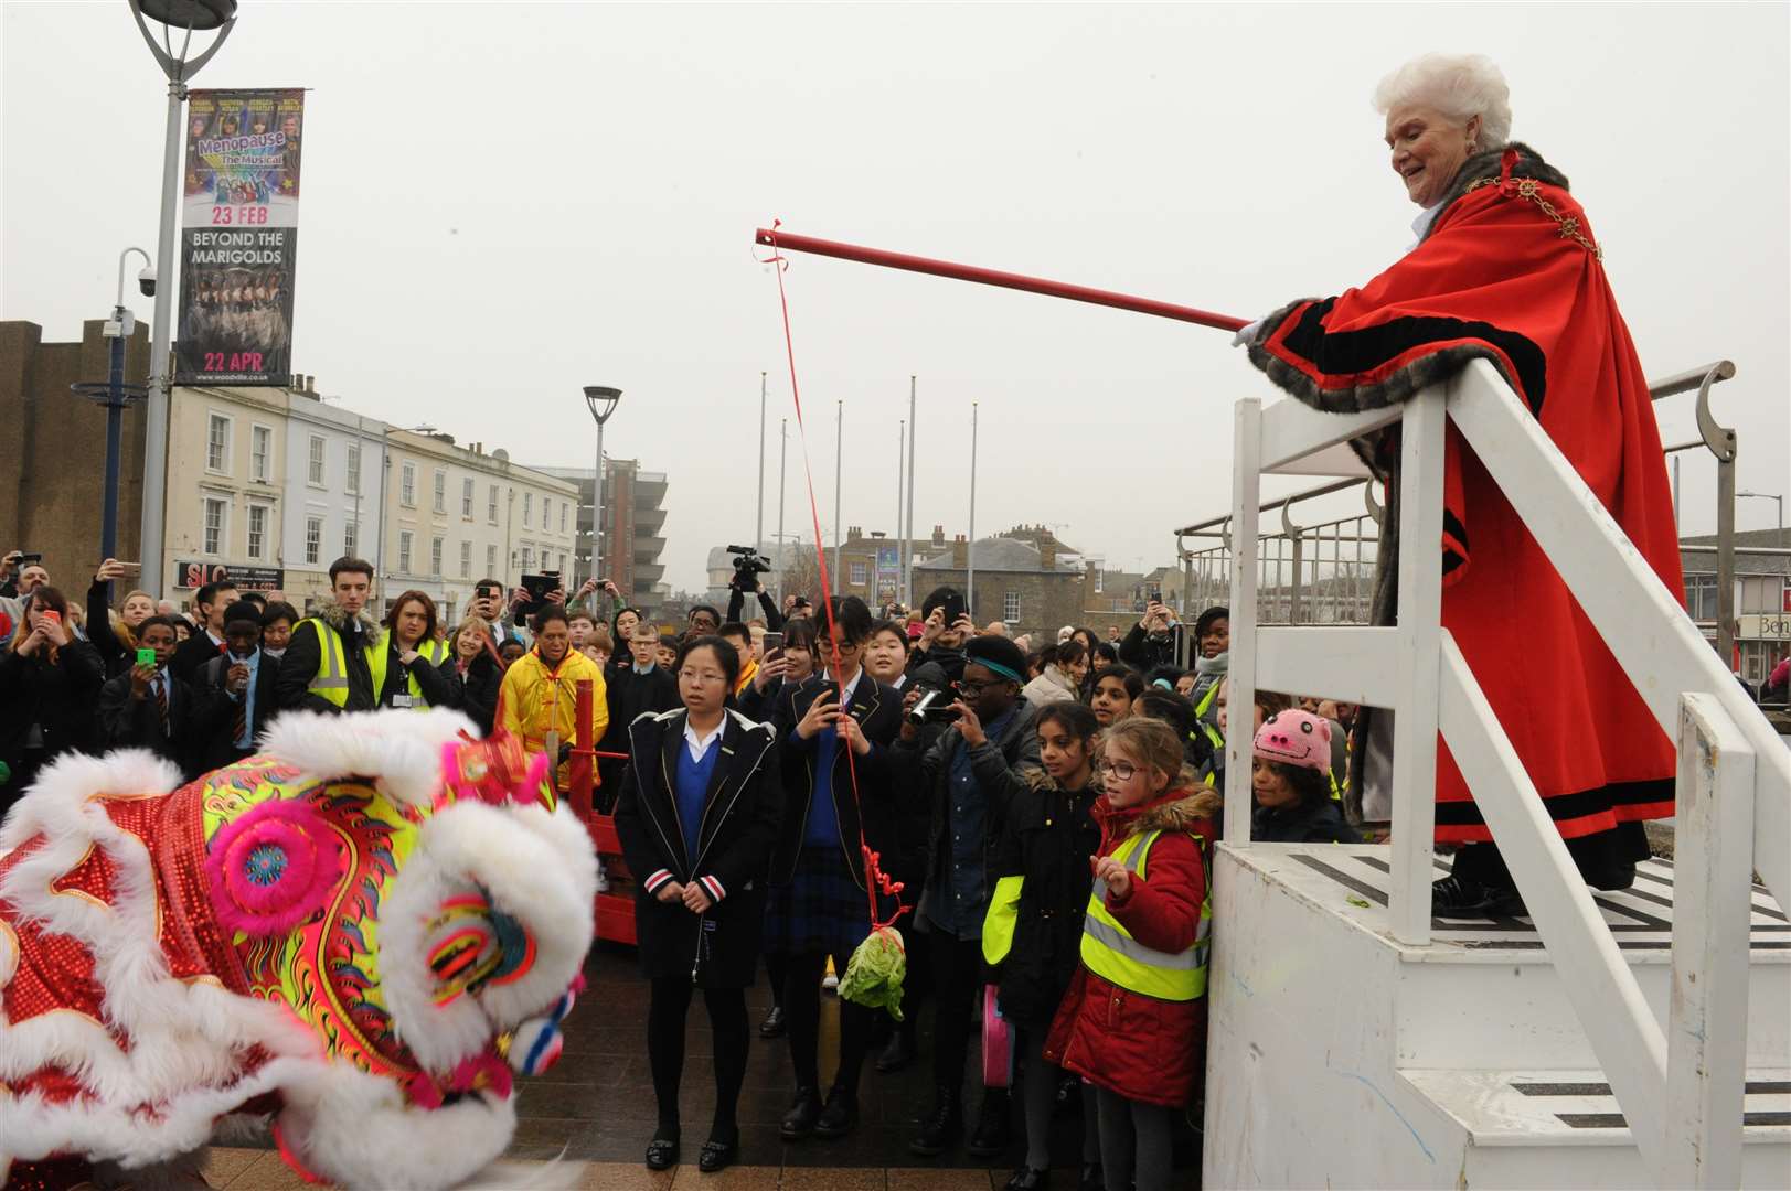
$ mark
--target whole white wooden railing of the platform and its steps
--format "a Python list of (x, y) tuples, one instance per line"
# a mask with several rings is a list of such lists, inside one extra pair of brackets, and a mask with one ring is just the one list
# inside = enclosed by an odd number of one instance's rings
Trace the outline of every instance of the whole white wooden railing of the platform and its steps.
[[(1560, 833), (1454, 639), (1442, 630), (1444, 426), (1453, 421), (1678, 745), (1673, 998), (1642, 999)], [(1257, 625), (1261, 476), (1401, 428), (1397, 627)], [(1307, 460), (1302, 466), (1300, 460)], [(1238, 403), (1230, 704), (1255, 688), (1393, 711), (1392, 931), (1431, 942), (1436, 736), (1530, 908), (1632, 1137), (1660, 1186), (1737, 1186), (1746, 1080), (1748, 887), (1791, 903), (1791, 754), (1504, 380), (1474, 362), (1402, 407), (1320, 414)], [(1248, 734), (1227, 740), (1225, 838), (1250, 838)]]

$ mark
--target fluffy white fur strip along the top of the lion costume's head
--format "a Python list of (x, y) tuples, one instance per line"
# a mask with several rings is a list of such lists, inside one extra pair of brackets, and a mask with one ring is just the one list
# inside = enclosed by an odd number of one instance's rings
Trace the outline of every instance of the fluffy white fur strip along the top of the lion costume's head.
[(428, 806), (441, 784), (442, 745), (478, 729), (458, 711), (288, 711), (261, 738), (261, 750), (308, 777), (373, 777), (394, 802)]

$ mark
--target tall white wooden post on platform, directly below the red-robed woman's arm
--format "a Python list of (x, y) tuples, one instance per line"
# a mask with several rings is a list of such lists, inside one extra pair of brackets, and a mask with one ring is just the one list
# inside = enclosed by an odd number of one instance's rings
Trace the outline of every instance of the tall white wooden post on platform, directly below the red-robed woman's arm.
[(1431, 940), (1436, 833), (1436, 636), (1444, 580), (1444, 410), (1451, 385), (1404, 403), (1399, 450), (1399, 690), (1393, 715), (1393, 938)]

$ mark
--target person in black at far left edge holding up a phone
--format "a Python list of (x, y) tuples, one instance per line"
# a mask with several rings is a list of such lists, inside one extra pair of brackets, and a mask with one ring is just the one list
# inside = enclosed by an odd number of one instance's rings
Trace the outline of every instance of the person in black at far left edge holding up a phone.
[(48, 584), (21, 602), (23, 623), (0, 654), (0, 817), (36, 779), (38, 770), (93, 745), (93, 704), (106, 668), (99, 652), (66, 623), (68, 600)]

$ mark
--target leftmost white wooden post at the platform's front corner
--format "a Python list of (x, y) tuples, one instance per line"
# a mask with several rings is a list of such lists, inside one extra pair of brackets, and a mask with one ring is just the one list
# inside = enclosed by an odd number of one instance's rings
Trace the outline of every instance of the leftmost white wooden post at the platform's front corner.
[(1232, 416), (1230, 663), (1225, 675), (1225, 842), (1250, 842), (1250, 725), (1255, 722), (1255, 532), (1263, 507), (1263, 401)]

